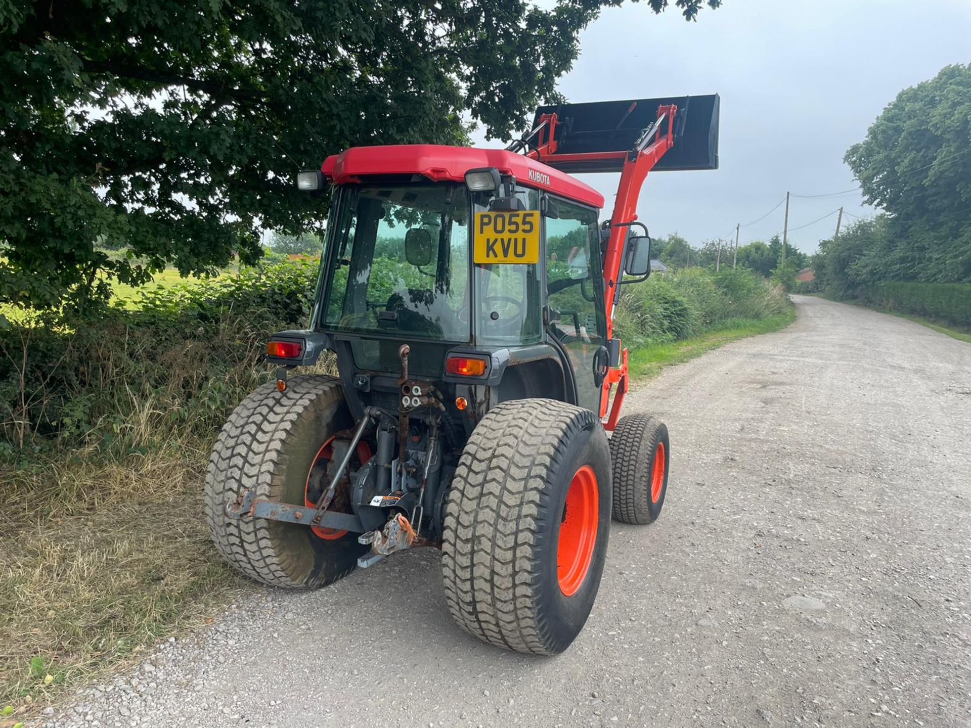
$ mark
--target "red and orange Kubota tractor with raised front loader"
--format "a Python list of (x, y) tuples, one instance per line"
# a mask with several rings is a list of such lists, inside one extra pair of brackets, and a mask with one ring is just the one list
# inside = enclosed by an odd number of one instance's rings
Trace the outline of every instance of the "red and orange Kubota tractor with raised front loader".
[[(651, 523), (667, 487), (667, 428), (619, 416), (613, 310), (651, 273), (638, 193), (652, 169), (716, 169), (718, 117), (717, 95), (561, 105), (508, 149), (359, 147), (301, 172), (329, 206), (315, 305), (307, 329), (272, 337), (276, 381), (213, 450), (226, 559), (314, 588), (438, 546), (463, 629), (570, 645), (611, 516)], [(609, 220), (571, 172), (620, 173)], [(339, 377), (287, 378), (325, 350)]]

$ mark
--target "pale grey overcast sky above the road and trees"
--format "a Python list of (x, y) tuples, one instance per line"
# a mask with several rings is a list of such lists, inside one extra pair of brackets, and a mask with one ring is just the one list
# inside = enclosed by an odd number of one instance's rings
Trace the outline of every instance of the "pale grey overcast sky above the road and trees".
[[(570, 101), (720, 93), (720, 169), (651, 175), (638, 206), (653, 235), (678, 231), (697, 246), (734, 236), (736, 222), (768, 212), (787, 189), (855, 187), (843, 154), (887, 103), (949, 63), (968, 62), (971, 0), (724, 0), (696, 23), (628, 2), (586, 29), (559, 87)], [(476, 142), (496, 146), (481, 135)], [(610, 208), (617, 176), (584, 179)], [(840, 205), (872, 213), (858, 193), (793, 198), (789, 228)], [(781, 233), (783, 211), (743, 227), (741, 245)], [(832, 215), (789, 241), (811, 252), (835, 224)]]

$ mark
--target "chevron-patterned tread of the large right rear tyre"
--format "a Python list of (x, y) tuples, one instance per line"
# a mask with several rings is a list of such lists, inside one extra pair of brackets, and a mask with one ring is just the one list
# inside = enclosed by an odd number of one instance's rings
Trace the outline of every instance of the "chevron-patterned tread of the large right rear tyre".
[(452, 617), (485, 642), (536, 654), (565, 646), (538, 609), (538, 549), (559, 445), (595, 422), (555, 400), (504, 402), (462, 451), (446, 500), (442, 574)]

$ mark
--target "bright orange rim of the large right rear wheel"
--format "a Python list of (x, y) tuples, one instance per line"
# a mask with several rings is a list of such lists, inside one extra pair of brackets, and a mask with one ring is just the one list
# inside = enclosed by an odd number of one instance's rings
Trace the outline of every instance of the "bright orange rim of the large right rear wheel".
[(589, 571), (597, 541), (599, 514), (597, 477), (593, 469), (585, 465), (570, 480), (556, 546), (556, 578), (560, 591), (568, 597), (580, 590)]

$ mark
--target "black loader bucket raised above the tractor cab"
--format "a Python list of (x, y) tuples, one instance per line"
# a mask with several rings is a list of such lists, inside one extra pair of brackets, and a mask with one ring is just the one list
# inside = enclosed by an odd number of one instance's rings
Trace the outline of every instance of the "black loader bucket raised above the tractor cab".
[[(556, 152), (542, 161), (567, 173), (619, 172), (622, 158), (556, 159), (563, 154), (595, 154), (626, 151), (634, 146), (641, 132), (657, 116), (657, 107), (675, 104), (675, 145), (662, 156), (653, 171), (714, 170), (719, 168), (719, 95), (668, 96), (628, 101), (595, 101), (585, 104), (558, 104), (540, 107), (540, 116), (556, 114)], [(667, 121), (661, 130), (666, 130)]]

